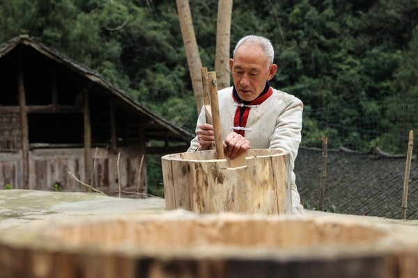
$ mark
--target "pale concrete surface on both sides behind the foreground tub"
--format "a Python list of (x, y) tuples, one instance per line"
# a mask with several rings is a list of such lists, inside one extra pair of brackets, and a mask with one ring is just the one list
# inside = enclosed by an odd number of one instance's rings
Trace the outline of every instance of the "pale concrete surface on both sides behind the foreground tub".
[[(79, 221), (84, 218), (104, 218), (118, 215), (163, 213), (164, 199), (128, 199), (99, 193), (49, 192), (38, 190), (0, 190), (0, 231), (28, 229), (45, 222)], [(320, 211), (305, 211), (307, 218), (344, 218), (356, 222), (389, 224), (418, 231), (418, 220), (394, 220), (360, 215), (342, 215)], [(417, 236), (418, 237), (418, 236)]]

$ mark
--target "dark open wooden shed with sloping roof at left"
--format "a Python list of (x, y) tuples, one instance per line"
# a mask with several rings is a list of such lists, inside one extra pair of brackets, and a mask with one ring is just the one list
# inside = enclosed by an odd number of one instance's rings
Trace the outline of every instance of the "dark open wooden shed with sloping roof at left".
[(192, 138), (28, 36), (0, 45), (0, 79), (0, 188), (146, 193), (144, 156), (185, 152)]

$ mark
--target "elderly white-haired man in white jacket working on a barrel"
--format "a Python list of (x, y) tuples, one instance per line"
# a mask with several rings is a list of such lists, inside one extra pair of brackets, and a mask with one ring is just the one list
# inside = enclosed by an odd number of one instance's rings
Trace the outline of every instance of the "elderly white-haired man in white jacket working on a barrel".
[[(247, 35), (236, 44), (229, 60), (233, 86), (218, 92), (224, 154), (235, 158), (250, 147), (281, 149), (289, 152), (293, 170), (301, 140), (303, 104), (270, 86), (277, 72), (273, 58), (274, 49), (267, 38)], [(213, 126), (206, 123), (202, 109), (188, 151), (206, 150), (214, 142)], [(303, 215), (293, 171), (291, 188), (292, 212)]]

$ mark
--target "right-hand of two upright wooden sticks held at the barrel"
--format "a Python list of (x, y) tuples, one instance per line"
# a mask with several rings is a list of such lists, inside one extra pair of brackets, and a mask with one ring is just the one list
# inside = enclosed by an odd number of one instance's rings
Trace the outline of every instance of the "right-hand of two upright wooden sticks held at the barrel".
[(215, 133), (215, 149), (217, 159), (223, 159), (224, 146), (222, 145), (221, 120), (219, 118), (219, 103), (217, 98), (216, 72), (208, 72), (210, 81), (210, 110), (212, 111), (213, 132)]

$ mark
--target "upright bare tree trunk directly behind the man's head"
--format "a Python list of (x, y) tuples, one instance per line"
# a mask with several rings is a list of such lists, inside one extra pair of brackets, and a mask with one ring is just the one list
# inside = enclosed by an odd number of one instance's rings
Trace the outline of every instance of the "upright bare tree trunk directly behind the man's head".
[(219, 0), (218, 3), (215, 72), (219, 90), (229, 87), (231, 82), (229, 45), (231, 43), (232, 3), (233, 0)]

